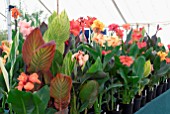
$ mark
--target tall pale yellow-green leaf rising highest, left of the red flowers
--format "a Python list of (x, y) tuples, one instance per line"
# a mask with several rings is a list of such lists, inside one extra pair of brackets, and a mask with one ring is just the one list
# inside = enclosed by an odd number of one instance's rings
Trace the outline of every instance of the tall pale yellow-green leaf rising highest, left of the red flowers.
[(65, 11), (60, 15), (54, 12), (49, 18), (48, 30), (44, 34), (45, 41), (55, 40), (57, 50), (64, 52), (64, 42), (69, 39), (70, 21)]

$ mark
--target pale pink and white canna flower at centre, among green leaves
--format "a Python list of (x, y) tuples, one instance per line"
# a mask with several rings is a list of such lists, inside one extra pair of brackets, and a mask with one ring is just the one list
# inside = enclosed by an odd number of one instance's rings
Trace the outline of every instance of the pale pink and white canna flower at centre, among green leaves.
[(84, 55), (84, 52), (79, 50), (77, 53), (75, 53), (74, 55), (72, 55), (72, 61), (73, 59), (76, 59), (76, 61), (79, 63), (80, 66), (83, 66), (86, 61), (89, 59), (89, 55)]

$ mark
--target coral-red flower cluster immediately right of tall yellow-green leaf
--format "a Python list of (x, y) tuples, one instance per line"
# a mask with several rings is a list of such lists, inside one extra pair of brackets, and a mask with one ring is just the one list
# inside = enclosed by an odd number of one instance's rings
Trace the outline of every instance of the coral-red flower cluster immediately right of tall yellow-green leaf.
[(70, 33), (74, 36), (78, 36), (80, 33), (80, 23), (78, 21), (70, 21)]

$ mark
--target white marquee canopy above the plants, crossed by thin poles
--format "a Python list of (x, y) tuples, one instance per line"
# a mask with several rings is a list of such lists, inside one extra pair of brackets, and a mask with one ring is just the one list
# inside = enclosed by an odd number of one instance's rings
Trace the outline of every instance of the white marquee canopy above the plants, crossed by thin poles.
[[(0, 0), (0, 12), (6, 12), (6, 0)], [(56, 10), (57, 0), (41, 0), (51, 10)], [(150, 34), (153, 35), (157, 23), (163, 28), (158, 33), (165, 44), (170, 43), (170, 0), (115, 0), (128, 23), (153, 23), (150, 25)], [(44, 15), (49, 12), (38, 0), (21, 0), (22, 9), (31, 13), (43, 10)], [(19, 7), (19, 0), (11, 0), (11, 5)], [(59, 0), (60, 11), (66, 10), (71, 19), (80, 16), (93, 16), (104, 22), (106, 26), (111, 23), (123, 24), (123, 20), (115, 9), (112, 0)], [(147, 27), (147, 25), (145, 25)], [(5, 18), (0, 15), (0, 30), (6, 29)]]

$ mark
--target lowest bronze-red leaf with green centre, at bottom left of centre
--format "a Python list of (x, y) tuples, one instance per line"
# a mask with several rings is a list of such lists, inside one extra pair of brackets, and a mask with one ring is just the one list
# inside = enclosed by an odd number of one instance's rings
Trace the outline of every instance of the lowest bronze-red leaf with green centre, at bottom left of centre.
[(50, 95), (54, 98), (54, 105), (59, 111), (68, 107), (70, 103), (71, 87), (71, 77), (64, 74), (57, 74), (51, 81)]

